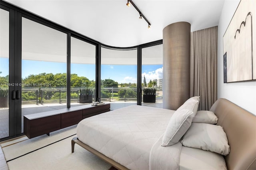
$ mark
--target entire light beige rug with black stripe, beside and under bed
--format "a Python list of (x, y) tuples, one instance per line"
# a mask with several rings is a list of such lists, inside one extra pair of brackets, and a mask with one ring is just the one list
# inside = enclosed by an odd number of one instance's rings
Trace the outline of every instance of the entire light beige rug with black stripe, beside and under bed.
[(9, 170), (108, 170), (111, 165), (78, 144), (71, 153), (76, 125), (28, 139), (1, 144)]

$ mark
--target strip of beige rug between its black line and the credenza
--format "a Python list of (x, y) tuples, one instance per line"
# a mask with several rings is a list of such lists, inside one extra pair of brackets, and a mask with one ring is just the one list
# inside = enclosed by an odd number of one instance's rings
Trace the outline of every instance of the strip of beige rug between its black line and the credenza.
[(36, 138), (28, 139), (26, 136), (1, 144), (6, 161), (12, 160), (36, 149), (47, 146), (66, 137), (76, 134), (76, 125), (51, 132), (50, 136), (44, 134)]

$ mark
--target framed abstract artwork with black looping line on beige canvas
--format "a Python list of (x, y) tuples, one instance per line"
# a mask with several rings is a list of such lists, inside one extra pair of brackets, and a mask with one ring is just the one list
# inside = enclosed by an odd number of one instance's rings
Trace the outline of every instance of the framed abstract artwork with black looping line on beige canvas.
[(224, 83), (256, 80), (255, 12), (255, 0), (241, 0), (223, 36)]

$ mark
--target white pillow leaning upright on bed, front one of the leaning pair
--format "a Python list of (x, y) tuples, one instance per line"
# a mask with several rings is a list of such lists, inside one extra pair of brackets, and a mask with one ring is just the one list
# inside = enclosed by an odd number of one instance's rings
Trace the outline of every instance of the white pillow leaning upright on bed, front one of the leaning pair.
[(194, 113), (188, 109), (175, 111), (172, 115), (162, 139), (162, 146), (176, 144), (186, 133), (192, 123)]

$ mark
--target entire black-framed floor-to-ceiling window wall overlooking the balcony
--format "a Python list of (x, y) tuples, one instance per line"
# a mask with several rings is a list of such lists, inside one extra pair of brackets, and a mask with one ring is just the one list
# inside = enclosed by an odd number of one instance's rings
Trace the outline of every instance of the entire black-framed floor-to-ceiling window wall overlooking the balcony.
[[(156, 103), (161, 102), (160, 40), (109, 47), (6, 2), (1, 1), (0, 12), (1, 140), (22, 134), (23, 115), (84, 105), (97, 97), (122, 106), (140, 104), (144, 84), (157, 88)], [(80, 102), (81, 94), (91, 100)]]

